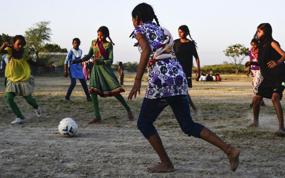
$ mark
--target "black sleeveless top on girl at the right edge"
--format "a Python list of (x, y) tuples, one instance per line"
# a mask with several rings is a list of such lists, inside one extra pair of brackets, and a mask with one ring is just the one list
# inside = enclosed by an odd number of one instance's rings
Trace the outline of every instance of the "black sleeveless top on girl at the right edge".
[[(258, 48), (258, 64), (265, 82), (285, 82), (285, 64), (282, 62), (273, 68), (268, 67), (271, 60), (278, 61), (282, 56), (271, 46), (269, 41), (265, 46)], [(274, 41), (278, 43), (277, 41)]]

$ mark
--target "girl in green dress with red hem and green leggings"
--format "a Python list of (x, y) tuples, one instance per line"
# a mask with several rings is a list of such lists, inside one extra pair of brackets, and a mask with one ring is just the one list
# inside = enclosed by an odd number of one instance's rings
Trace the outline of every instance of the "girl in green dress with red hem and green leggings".
[[(119, 102), (125, 107), (128, 113), (128, 121), (133, 121), (134, 116), (127, 102), (120, 94), (125, 90), (120, 86), (116, 75), (111, 68), (113, 63), (113, 45), (114, 43), (109, 37), (109, 29), (102, 26), (98, 29), (98, 36), (96, 40), (93, 40), (89, 53), (81, 60), (73, 60), (72, 64), (78, 64), (90, 59), (93, 55), (94, 66), (90, 74), (90, 93), (92, 97), (93, 107), (95, 110), (95, 119), (87, 122), (87, 124), (101, 123), (101, 115), (99, 112), (98, 95), (101, 97), (115, 96)], [(110, 42), (106, 38), (110, 39)], [(112, 45), (113, 44), (113, 45)]]

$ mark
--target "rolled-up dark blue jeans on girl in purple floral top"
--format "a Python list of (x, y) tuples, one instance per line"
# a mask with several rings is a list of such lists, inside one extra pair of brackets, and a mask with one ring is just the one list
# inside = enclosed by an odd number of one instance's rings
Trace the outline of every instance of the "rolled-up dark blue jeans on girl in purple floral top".
[(188, 95), (176, 95), (163, 98), (144, 98), (141, 112), (138, 119), (138, 129), (141, 130), (145, 138), (157, 133), (153, 122), (166, 106), (170, 106), (181, 130), (189, 137), (200, 138), (203, 125), (196, 123), (190, 116), (190, 105)]

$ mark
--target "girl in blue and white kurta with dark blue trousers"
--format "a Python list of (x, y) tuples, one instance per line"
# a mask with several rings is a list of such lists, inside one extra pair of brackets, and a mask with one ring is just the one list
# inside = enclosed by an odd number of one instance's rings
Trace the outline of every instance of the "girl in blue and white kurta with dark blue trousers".
[(80, 45), (80, 40), (78, 38), (73, 39), (72, 41), (73, 48), (68, 51), (68, 54), (66, 56), (66, 60), (64, 62), (64, 76), (67, 77), (67, 67), (68, 67), (68, 72), (69, 72), (69, 77), (71, 84), (67, 90), (66, 96), (65, 96), (65, 101), (66, 102), (73, 102), (70, 100), (70, 95), (72, 93), (72, 90), (76, 86), (76, 78), (79, 79), (82, 88), (86, 94), (86, 99), (87, 101), (91, 101), (91, 96), (89, 94), (88, 86), (86, 84), (86, 80), (84, 78), (83, 72), (82, 72), (82, 67), (80, 64), (72, 64), (72, 60), (80, 60), (81, 55), (82, 55), (82, 50), (79, 49)]

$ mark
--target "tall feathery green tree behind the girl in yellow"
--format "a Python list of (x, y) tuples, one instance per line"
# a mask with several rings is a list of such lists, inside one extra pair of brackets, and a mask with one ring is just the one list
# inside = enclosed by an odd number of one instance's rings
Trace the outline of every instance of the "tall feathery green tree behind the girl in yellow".
[(31, 53), (36, 55), (36, 61), (41, 62), (38, 57), (38, 53), (41, 52), (45, 42), (50, 41), (51, 29), (47, 26), (49, 21), (41, 21), (35, 23), (33, 27), (25, 31), (25, 39), (27, 41), (27, 48)]

